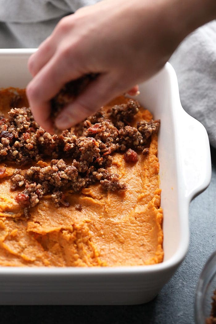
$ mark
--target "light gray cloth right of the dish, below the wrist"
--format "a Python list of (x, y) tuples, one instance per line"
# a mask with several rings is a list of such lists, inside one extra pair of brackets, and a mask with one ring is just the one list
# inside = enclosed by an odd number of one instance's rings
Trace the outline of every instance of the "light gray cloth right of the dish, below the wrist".
[(216, 147), (216, 20), (189, 35), (170, 58), (183, 108), (206, 128)]

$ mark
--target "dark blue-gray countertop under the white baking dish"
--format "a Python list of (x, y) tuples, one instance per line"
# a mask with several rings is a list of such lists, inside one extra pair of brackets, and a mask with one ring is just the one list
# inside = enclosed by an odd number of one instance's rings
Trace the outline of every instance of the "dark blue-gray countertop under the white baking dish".
[(216, 249), (216, 150), (211, 149), (210, 186), (190, 204), (188, 254), (172, 279), (150, 303), (135, 306), (0, 306), (0, 323), (193, 324), (200, 272)]

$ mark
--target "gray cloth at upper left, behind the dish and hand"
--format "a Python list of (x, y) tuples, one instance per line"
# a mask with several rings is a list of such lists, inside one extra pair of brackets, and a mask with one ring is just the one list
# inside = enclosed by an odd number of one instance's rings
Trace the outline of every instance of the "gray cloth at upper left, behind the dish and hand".
[(0, 0), (0, 48), (34, 48), (59, 20), (100, 0)]

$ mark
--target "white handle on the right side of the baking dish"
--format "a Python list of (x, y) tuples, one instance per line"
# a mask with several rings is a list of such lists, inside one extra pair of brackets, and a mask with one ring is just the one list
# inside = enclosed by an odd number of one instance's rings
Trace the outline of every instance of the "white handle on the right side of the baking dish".
[(192, 200), (204, 191), (211, 180), (211, 155), (205, 127), (182, 108), (181, 163), (186, 197)]

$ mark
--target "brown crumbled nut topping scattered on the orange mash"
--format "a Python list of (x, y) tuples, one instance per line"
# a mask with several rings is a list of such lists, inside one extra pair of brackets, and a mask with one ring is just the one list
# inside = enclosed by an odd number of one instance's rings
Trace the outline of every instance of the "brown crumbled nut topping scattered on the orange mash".
[[(29, 209), (51, 194), (55, 206), (68, 206), (65, 191), (79, 192), (99, 182), (106, 191), (126, 191), (126, 184), (118, 174), (108, 171), (114, 152), (125, 152), (126, 162), (135, 163), (138, 155), (148, 153), (150, 136), (157, 132), (160, 121), (141, 121), (137, 127), (130, 121), (139, 111), (137, 101), (116, 105), (106, 114), (100, 109), (85, 121), (60, 135), (44, 131), (33, 119), (29, 108), (13, 108), (9, 118), (0, 116), (0, 161), (14, 161), (26, 165), (51, 159), (29, 169), (16, 169), (11, 177), (11, 189), (23, 188), (16, 201), (28, 215)], [(110, 119), (108, 119), (110, 118)], [(65, 161), (70, 159), (71, 163)], [(5, 172), (0, 169), (0, 175)], [(81, 207), (77, 207), (81, 210)]]

